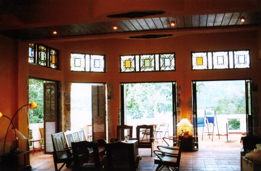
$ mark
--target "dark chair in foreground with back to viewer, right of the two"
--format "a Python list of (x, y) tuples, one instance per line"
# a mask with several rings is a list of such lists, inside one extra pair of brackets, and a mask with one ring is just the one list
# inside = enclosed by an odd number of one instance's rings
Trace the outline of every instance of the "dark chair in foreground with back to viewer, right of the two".
[(135, 155), (134, 144), (115, 142), (106, 144), (106, 158), (108, 171), (137, 171), (141, 156)]

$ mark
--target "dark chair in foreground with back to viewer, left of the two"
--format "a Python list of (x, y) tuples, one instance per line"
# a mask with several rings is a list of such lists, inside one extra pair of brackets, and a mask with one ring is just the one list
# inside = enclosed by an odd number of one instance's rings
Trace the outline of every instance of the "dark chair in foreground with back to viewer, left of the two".
[(101, 170), (104, 159), (99, 157), (98, 142), (72, 142), (73, 171)]

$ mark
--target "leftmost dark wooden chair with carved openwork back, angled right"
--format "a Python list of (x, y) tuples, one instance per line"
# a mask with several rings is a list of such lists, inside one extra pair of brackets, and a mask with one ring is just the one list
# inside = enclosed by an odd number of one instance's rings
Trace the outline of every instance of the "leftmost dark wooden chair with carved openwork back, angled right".
[[(65, 138), (63, 132), (52, 134), (53, 141), (53, 163), (55, 171), (60, 171), (66, 164), (69, 167), (72, 163), (71, 149), (65, 148)], [(63, 163), (58, 169), (57, 164)]]

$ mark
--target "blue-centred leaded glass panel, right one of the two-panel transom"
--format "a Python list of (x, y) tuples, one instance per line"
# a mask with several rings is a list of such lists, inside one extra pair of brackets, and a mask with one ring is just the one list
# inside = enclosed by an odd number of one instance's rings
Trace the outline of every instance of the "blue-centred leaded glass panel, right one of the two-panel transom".
[(90, 68), (92, 72), (104, 72), (104, 56), (91, 55)]

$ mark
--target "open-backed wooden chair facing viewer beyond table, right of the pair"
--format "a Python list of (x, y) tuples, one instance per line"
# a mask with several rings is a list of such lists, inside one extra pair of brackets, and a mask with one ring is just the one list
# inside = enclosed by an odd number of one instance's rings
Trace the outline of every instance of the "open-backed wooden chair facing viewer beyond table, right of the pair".
[[(146, 135), (146, 138), (144, 136)], [(139, 148), (151, 148), (151, 156), (153, 153), (153, 125), (138, 125), (136, 132)]]

